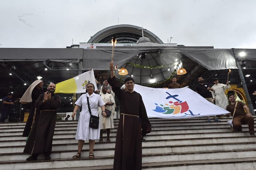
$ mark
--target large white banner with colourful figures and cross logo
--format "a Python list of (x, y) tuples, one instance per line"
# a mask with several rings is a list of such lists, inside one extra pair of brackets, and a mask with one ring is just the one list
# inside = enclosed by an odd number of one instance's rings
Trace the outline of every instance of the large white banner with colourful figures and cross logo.
[(135, 85), (141, 94), (148, 117), (181, 119), (222, 115), (228, 111), (212, 104), (190, 88), (151, 88)]

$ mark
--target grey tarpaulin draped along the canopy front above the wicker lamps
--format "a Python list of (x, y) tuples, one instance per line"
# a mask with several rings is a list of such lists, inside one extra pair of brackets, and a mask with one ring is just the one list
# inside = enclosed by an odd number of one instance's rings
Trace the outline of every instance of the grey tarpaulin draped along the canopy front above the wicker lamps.
[[(122, 66), (132, 59), (138, 60), (138, 54), (149, 51), (161, 51), (162, 54), (164, 52), (162, 63), (173, 62), (173, 57), (180, 59), (180, 53), (201, 64), (208, 70), (237, 69), (232, 49), (119, 48), (115, 49), (114, 52), (114, 64)], [(109, 70), (111, 55), (112, 49), (84, 49), (83, 69)]]

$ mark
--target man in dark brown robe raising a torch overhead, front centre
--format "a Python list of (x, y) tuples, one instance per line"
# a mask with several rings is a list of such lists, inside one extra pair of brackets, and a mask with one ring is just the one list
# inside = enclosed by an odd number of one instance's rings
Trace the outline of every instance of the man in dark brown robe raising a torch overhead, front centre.
[(125, 79), (127, 91), (120, 89), (119, 82), (115, 78), (114, 64), (109, 65), (111, 78), (108, 83), (120, 101), (120, 119), (116, 134), (116, 146), (114, 156), (114, 170), (141, 170), (142, 167), (142, 142), (141, 128), (151, 132), (151, 124), (139, 93), (133, 90), (134, 80)]

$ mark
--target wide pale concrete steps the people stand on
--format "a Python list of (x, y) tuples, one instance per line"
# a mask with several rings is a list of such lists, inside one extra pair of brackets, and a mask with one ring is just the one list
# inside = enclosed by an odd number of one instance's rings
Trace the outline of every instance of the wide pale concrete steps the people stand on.
[[(142, 142), (143, 169), (256, 169), (256, 138), (249, 135), (247, 125), (243, 125), (243, 132), (231, 133), (227, 120), (205, 122), (205, 118), (150, 118), (152, 133)], [(23, 153), (26, 137), (21, 136), (25, 123), (3, 123), (0, 125), (0, 170), (112, 169), (118, 120), (114, 124), (115, 129), (111, 129), (110, 133), (111, 142), (99, 143), (96, 140), (93, 159), (88, 158), (87, 141), (81, 158), (72, 159), (77, 152), (77, 141), (74, 140), (77, 122), (63, 121), (56, 124), (52, 159), (44, 160), (44, 156), (40, 155), (37, 161), (26, 161), (29, 157)]]

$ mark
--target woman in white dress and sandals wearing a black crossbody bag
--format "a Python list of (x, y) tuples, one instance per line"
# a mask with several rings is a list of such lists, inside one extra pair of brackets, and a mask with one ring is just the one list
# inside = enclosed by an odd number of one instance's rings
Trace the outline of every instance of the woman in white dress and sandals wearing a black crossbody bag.
[(102, 109), (102, 115), (106, 116), (105, 113), (105, 103), (101, 99), (100, 95), (94, 93), (94, 85), (88, 83), (86, 85), (86, 93), (82, 94), (78, 100), (75, 102), (75, 108), (72, 113), (72, 117), (75, 116), (76, 111), (82, 106), (82, 111), (78, 119), (77, 130), (75, 139), (78, 140), (78, 151), (77, 154), (73, 156), (73, 159), (79, 158), (81, 156), (81, 151), (83, 148), (84, 141), (89, 140), (89, 158), (94, 158), (93, 147), (95, 144), (95, 139), (99, 139), (100, 133), (100, 123), (98, 129), (93, 129), (89, 127), (90, 113), (88, 110), (87, 97), (89, 98), (89, 104), (91, 109), (91, 114), (98, 117), (98, 107)]

